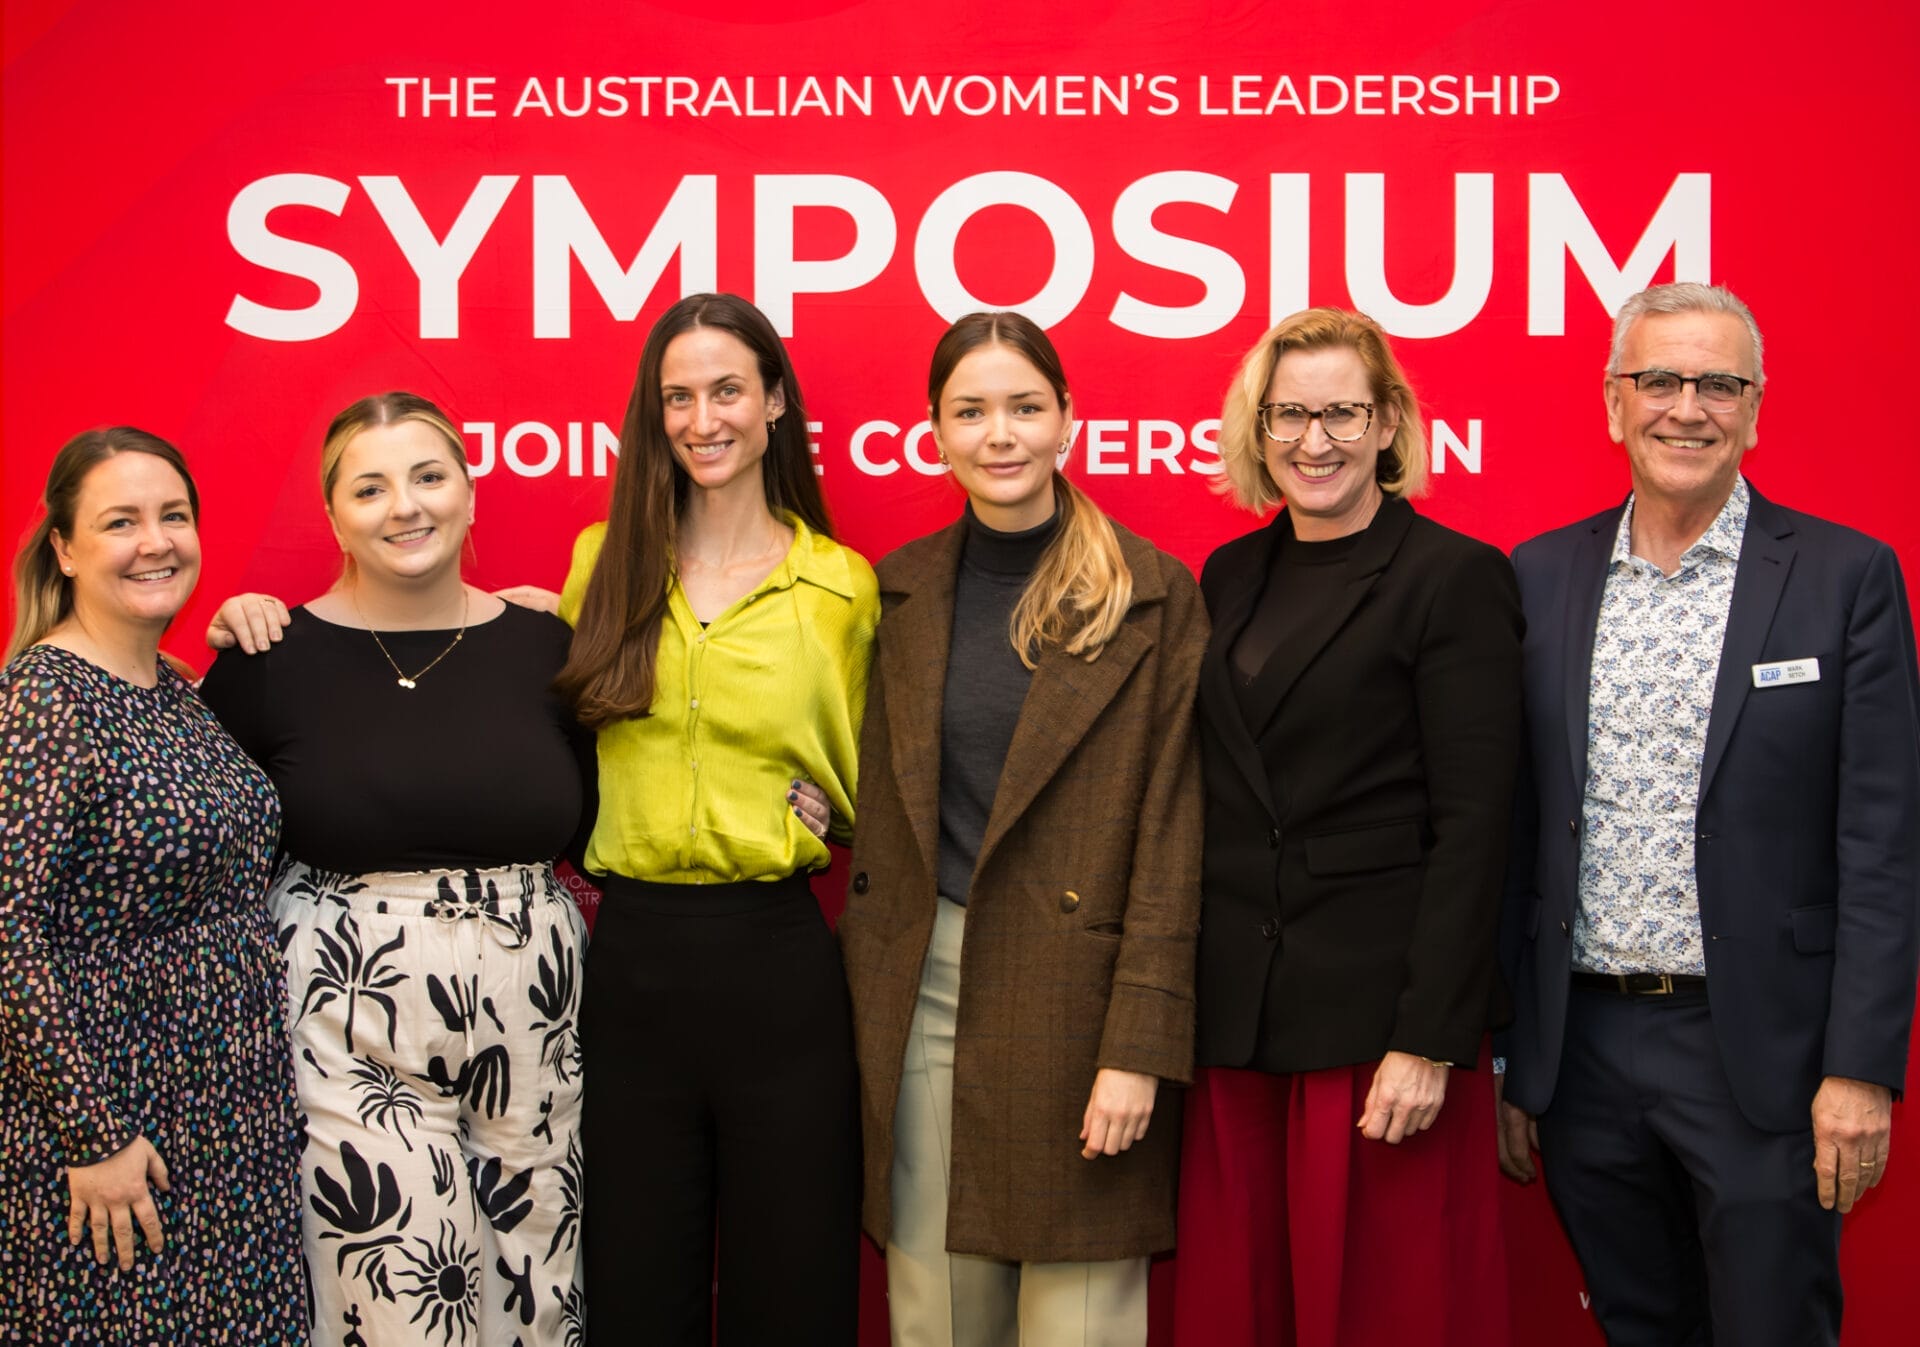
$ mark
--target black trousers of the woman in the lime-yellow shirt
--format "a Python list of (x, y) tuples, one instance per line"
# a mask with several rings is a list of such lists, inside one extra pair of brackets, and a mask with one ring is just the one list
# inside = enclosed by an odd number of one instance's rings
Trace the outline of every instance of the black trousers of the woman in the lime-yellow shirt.
[(586, 963), (588, 1341), (708, 1347), (718, 1278), (722, 1347), (852, 1343), (852, 1015), (806, 877), (612, 877)]

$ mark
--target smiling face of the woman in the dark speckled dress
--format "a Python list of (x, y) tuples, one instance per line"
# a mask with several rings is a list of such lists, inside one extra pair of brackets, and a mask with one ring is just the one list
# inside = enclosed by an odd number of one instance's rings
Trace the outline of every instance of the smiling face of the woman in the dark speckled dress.
[(83, 629), (163, 629), (200, 579), (186, 482), (150, 453), (117, 453), (81, 482), (73, 535), (52, 533)]

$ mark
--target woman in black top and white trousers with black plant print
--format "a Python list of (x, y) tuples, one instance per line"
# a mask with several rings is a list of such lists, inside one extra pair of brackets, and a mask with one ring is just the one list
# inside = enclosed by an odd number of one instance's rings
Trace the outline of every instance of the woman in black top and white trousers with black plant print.
[(576, 1341), (593, 746), (568, 629), (461, 579), (474, 489), (411, 393), (334, 418), (340, 581), (205, 698), (286, 808), (271, 896), (305, 1111), (315, 1343)]

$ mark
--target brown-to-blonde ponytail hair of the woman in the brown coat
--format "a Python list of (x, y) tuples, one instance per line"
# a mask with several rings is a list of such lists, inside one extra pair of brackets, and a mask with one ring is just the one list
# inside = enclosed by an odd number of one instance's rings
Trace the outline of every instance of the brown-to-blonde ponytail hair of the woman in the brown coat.
[[(1054, 390), (1060, 407), (1068, 405), (1068, 376), (1060, 366), (1060, 353), (1033, 319), (1020, 313), (970, 313), (947, 328), (933, 347), (933, 366), (927, 370), (929, 416), (939, 420), (941, 393), (960, 361), (989, 345), (1020, 355)], [(1054, 508), (1060, 528), (1041, 553), (1006, 631), (1029, 670), (1052, 647), (1089, 664), (1100, 658), (1133, 606), (1133, 570), (1119, 553), (1114, 524), (1058, 468)]]

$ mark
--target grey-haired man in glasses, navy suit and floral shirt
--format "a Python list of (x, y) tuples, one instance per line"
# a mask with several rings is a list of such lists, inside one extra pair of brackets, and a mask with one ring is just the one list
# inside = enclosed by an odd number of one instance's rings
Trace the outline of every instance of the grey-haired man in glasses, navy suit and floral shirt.
[[(1826, 372), (1811, 451), (1859, 474), (1857, 436), (1905, 432), (1870, 368)], [(1513, 555), (1501, 1167), (1538, 1149), (1609, 1341), (1834, 1343), (1920, 957), (1907, 591), (1887, 545), (1740, 476), (1764, 374), (1730, 292), (1628, 299), (1605, 388), (1632, 495)]]

